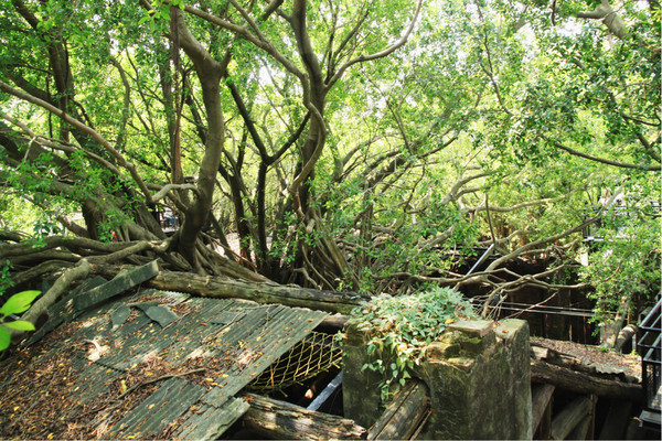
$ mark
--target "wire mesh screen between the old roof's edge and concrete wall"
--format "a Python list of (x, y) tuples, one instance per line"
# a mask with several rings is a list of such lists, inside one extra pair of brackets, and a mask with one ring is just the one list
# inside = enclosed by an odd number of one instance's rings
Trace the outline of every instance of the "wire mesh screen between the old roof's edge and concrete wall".
[(334, 335), (312, 332), (281, 355), (248, 387), (254, 390), (281, 390), (329, 370), (340, 368), (342, 349)]

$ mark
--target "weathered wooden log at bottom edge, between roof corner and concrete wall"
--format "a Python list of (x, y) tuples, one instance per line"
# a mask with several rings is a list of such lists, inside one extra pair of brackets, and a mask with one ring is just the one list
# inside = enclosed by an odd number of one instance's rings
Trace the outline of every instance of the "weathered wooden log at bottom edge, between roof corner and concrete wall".
[(277, 440), (357, 440), (365, 429), (353, 420), (308, 410), (260, 395), (246, 394), (250, 409), (244, 426), (258, 434)]

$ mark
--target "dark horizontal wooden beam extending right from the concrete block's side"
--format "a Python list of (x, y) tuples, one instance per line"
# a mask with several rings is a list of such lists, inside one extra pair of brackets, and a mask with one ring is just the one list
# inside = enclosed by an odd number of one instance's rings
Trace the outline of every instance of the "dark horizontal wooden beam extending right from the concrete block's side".
[(531, 361), (531, 380), (547, 383), (578, 394), (617, 398), (633, 402), (643, 401), (641, 385), (615, 381), (551, 365), (538, 359)]

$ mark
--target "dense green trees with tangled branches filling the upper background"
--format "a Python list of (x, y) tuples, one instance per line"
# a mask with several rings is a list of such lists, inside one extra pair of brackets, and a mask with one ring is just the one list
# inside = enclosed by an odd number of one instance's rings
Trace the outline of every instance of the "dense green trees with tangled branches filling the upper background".
[(15, 289), (89, 254), (372, 294), (590, 284), (600, 320), (660, 286), (656, 0), (0, 6)]

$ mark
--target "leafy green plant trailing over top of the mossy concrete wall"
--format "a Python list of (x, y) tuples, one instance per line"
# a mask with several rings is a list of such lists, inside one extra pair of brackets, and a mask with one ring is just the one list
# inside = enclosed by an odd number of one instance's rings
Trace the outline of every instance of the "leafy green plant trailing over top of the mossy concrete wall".
[(369, 333), (367, 354), (372, 362), (363, 369), (384, 376), (382, 401), (412, 377), (423, 349), (436, 341), (449, 324), (476, 318), (462, 294), (449, 288), (433, 288), (412, 295), (382, 294), (352, 312), (357, 330)]

